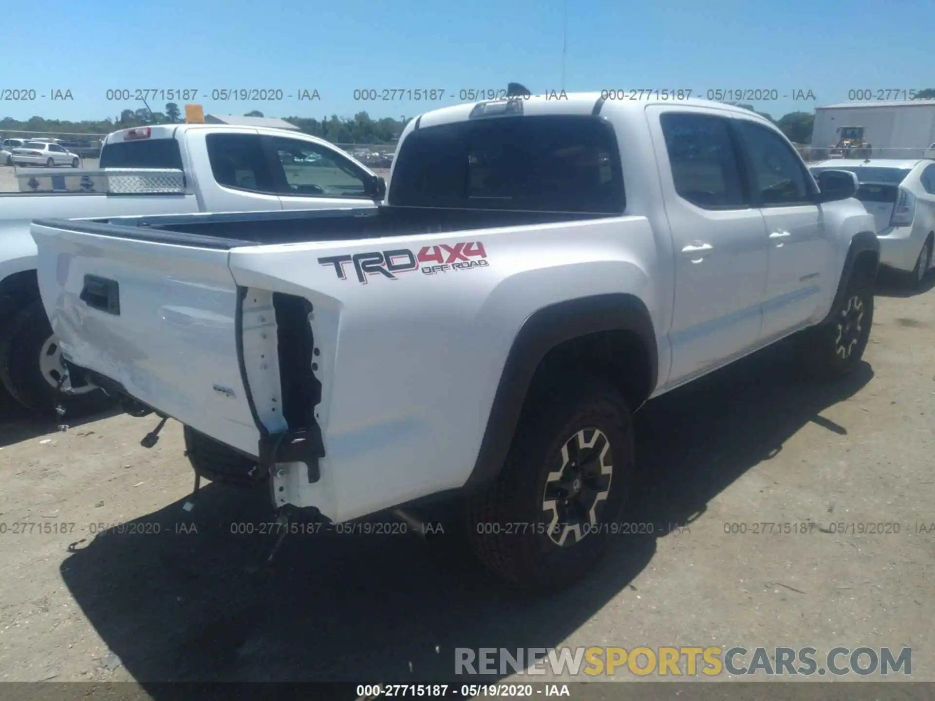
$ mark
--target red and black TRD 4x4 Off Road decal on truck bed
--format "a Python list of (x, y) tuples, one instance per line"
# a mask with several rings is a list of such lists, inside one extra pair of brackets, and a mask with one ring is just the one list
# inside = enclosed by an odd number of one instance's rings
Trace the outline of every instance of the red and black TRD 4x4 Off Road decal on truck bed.
[[(451, 246), (424, 246), (418, 253), (409, 249), (370, 250), (353, 255), (330, 255), (319, 258), (322, 265), (334, 265), (338, 279), (347, 279), (344, 264), (353, 265), (357, 281), (367, 284), (368, 275), (382, 275), (396, 279), (398, 273), (410, 273), (421, 269), (424, 275), (445, 273), (449, 270), (470, 270), (486, 267), (487, 253), (480, 241), (455, 243)], [(431, 264), (431, 265), (424, 265)]]

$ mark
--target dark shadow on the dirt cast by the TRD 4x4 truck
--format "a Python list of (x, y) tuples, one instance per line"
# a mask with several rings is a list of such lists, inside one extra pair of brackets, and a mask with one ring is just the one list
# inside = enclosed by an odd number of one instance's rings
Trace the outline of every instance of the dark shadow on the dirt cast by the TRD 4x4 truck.
[[(806, 379), (780, 345), (647, 404), (636, 417), (630, 520), (691, 522), (807, 422), (846, 434), (819, 414), (871, 377), (864, 364), (842, 383)], [(77, 544), (61, 565), (84, 614), (144, 685), (468, 681), (455, 678), (455, 648), (560, 645), (666, 537), (618, 537), (582, 583), (531, 598), (498, 585), (454, 535), (434, 546), (414, 536), (291, 535), (267, 567), (273, 538), (232, 532), (271, 520), (264, 492), (212, 484), (191, 511), (183, 503), (129, 524), (142, 533)], [(155, 683), (147, 690), (174, 695)]]

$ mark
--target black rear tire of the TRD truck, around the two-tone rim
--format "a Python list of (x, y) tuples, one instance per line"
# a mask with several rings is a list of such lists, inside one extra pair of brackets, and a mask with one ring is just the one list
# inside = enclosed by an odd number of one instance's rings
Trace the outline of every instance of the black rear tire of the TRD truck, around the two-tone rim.
[[(597, 525), (561, 547), (544, 530), (550, 522), (543, 508), (546, 484), (550, 472), (564, 466), (563, 446), (584, 429), (597, 429), (610, 444), (609, 492), (596, 512)], [(552, 391), (539, 390), (526, 402), (499, 476), (467, 499), (472, 550), (483, 565), (522, 589), (555, 590), (582, 579), (607, 550), (611, 524), (626, 504), (633, 464), (630, 412), (609, 384), (582, 375)]]

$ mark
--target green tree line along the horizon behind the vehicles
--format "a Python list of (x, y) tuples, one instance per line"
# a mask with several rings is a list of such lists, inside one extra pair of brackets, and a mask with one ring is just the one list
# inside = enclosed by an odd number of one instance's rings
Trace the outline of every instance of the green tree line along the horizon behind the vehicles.
[[(511, 91), (516, 87), (522, 88), (518, 83), (511, 83)], [(525, 91), (525, 89), (524, 89)], [(927, 88), (916, 93), (916, 99), (935, 98), (935, 88)], [(736, 104), (736, 103), (735, 103)], [(755, 111), (757, 114), (770, 120), (779, 127), (790, 141), (797, 144), (809, 144), (812, 141), (812, 128), (814, 112), (790, 112), (778, 120), (768, 112), (759, 112), (752, 105), (738, 105)], [(247, 112), (245, 117), (263, 117), (263, 112), (253, 110)], [(397, 120), (393, 117), (372, 119), (367, 112), (358, 112), (352, 118), (338, 117), (337, 114), (323, 115), (321, 119), (314, 117), (282, 117), (286, 122), (295, 124), (302, 132), (311, 136), (319, 136), (336, 144), (392, 144), (402, 133), (403, 127), (409, 120), (403, 115)], [(73, 134), (109, 134), (118, 129), (127, 129), (147, 124), (168, 124), (183, 122), (179, 106), (170, 102), (165, 105), (164, 112), (151, 112), (142, 107), (139, 109), (124, 109), (119, 115), (104, 120), (84, 120), (69, 122), (67, 120), (47, 120), (43, 117), (32, 117), (28, 120), (14, 120), (6, 117), (0, 120), (0, 132), (51, 132)]]

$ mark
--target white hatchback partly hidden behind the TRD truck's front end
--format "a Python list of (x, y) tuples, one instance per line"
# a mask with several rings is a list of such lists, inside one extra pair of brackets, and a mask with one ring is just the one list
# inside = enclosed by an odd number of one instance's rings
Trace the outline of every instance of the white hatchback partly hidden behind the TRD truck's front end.
[(935, 244), (935, 162), (929, 159), (823, 161), (809, 168), (849, 170), (860, 183), (856, 198), (876, 220), (880, 265), (902, 273), (917, 288), (932, 265)]

